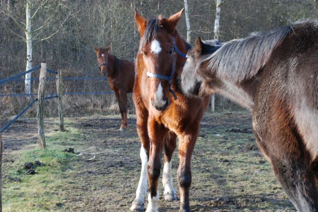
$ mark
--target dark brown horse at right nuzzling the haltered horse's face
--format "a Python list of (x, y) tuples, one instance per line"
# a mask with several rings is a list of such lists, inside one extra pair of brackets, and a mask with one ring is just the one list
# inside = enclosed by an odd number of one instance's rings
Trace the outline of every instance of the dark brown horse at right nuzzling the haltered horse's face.
[(296, 209), (318, 212), (318, 22), (224, 44), (202, 42), (182, 72), (188, 94), (223, 94), (252, 112), (265, 158)]

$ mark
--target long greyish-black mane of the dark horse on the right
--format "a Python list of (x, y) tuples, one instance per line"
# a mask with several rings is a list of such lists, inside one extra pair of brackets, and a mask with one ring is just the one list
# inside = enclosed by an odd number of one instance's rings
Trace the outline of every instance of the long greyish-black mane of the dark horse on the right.
[[(265, 66), (273, 51), (291, 33), (304, 34), (312, 28), (316, 28), (315, 32), (317, 33), (317, 27), (317, 21), (301, 20), (278, 30), (253, 33), (244, 39), (229, 41), (217, 51), (204, 54), (199, 59), (196, 69), (202, 62), (207, 61), (208, 69), (214, 72), (217, 77), (222, 76), (233, 82), (250, 79)], [(206, 47), (211, 49), (209, 42), (204, 43)]]

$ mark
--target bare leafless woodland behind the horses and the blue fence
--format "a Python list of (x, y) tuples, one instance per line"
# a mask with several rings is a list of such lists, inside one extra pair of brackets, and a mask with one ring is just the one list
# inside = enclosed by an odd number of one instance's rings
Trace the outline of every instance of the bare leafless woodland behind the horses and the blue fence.
[[(169, 17), (184, 7), (183, 0), (32, 0), (33, 66), (46, 62), (63, 76), (101, 76), (94, 47), (111, 46), (110, 53), (134, 61), (139, 34), (134, 8), (151, 18)], [(0, 0), (0, 79), (25, 71), (25, 0)], [(216, 0), (188, 0), (191, 45), (197, 36), (213, 39)], [(242, 38), (254, 31), (266, 31), (301, 18), (318, 17), (317, 0), (223, 0), (219, 40)], [(186, 39), (184, 15), (178, 30)], [(38, 77), (34, 73), (32, 77)], [(37, 81), (32, 91), (37, 91)], [(65, 81), (66, 91), (109, 91), (106, 80)], [(24, 82), (0, 85), (0, 93), (23, 93)], [(48, 82), (47, 92), (55, 91)], [(25, 97), (0, 97), (0, 117), (21, 110)], [(112, 113), (118, 111), (114, 95), (66, 96), (65, 114)], [(130, 112), (134, 112), (130, 98)], [(216, 110), (238, 109), (217, 97)], [(56, 115), (54, 100), (46, 105), (48, 115)], [(28, 114), (33, 115), (35, 108)]]

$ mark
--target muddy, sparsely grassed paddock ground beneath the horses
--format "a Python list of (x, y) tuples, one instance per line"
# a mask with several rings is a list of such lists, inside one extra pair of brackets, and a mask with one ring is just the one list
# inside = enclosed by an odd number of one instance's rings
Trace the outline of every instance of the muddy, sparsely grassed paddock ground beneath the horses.
[[(56, 119), (49, 118), (45, 122), (47, 132), (57, 128)], [(83, 155), (69, 164), (76, 170), (65, 176), (70, 183), (61, 188), (67, 193), (61, 211), (129, 211), (141, 170), (135, 116), (129, 116), (128, 129), (124, 133), (118, 130), (119, 116), (66, 118), (66, 122), (66, 128), (80, 129), (84, 139), (73, 147)], [(0, 121), (1, 126), (3, 123), (5, 120)], [(14, 151), (36, 143), (36, 133), (34, 119), (21, 119), (3, 133), (3, 175), (10, 169), (7, 164)], [(294, 211), (269, 163), (257, 148), (247, 112), (206, 114), (191, 165), (190, 205), (193, 212)], [(179, 196), (177, 166), (176, 150), (172, 174)], [(160, 179), (159, 194), (162, 193)], [(178, 201), (166, 202), (160, 196), (160, 212), (178, 211), (178, 207)]]

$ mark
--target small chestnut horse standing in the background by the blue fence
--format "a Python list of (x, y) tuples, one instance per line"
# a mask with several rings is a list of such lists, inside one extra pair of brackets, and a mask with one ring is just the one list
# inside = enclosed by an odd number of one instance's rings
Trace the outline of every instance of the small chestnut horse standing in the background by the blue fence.
[(115, 92), (121, 113), (120, 131), (127, 127), (127, 93), (133, 92), (135, 80), (135, 64), (125, 59), (118, 59), (108, 53), (107, 48), (94, 48), (97, 55), (98, 67), (109, 80), (110, 89)]

